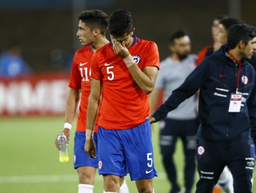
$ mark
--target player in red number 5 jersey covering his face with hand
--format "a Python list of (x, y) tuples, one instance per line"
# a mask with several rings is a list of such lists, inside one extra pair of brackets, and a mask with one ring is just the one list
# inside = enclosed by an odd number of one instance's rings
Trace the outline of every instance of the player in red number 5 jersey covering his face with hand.
[(91, 61), (85, 149), (96, 156), (93, 128), (100, 105), (97, 157), (104, 192), (119, 192), (120, 179), (128, 172), (138, 192), (154, 192), (157, 176), (147, 94), (154, 90), (159, 54), (156, 43), (135, 37), (134, 30), (130, 12), (114, 11), (109, 19), (111, 43)]

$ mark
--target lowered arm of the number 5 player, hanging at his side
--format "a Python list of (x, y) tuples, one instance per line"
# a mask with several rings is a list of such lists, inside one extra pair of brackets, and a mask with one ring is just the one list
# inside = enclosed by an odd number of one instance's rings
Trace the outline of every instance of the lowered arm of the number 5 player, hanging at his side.
[(101, 82), (97, 79), (91, 79), (91, 93), (88, 99), (87, 116), (86, 116), (86, 143), (85, 151), (91, 158), (95, 158), (95, 143), (93, 141), (93, 130), (95, 121), (98, 116), (100, 106)]

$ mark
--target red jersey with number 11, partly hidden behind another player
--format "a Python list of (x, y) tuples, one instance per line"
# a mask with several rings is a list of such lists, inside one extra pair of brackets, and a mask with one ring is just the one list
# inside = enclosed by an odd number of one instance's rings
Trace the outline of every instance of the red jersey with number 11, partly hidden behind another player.
[[(91, 58), (93, 51), (91, 45), (87, 45), (75, 52), (72, 63), (71, 77), (68, 86), (75, 90), (81, 89), (81, 99), (79, 114), (77, 118), (77, 132), (85, 132), (86, 130), (86, 114), (88, 106), (88, 98), (91, 92)], [(98, 121), (95, 124), (94, 132), (98, 132)]]

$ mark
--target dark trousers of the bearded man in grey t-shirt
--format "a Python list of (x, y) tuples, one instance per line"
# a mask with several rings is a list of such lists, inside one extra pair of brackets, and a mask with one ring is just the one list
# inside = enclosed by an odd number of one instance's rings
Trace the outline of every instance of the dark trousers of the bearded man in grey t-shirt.
[(176, 166), (174, 164), (173, 154), (178, 138), (183, 143), (183, 152), (185, 154), (185, 190), (191, 192), (194, 184), (195, 172), (195, 152), (196, 152), (196, 132), (199, 127), (198, 119), (176, 120), (164, 119), (161, 121), (160, 146), (163, 155), (163, 166), (172, 188), (179, 187), (177, 183)]

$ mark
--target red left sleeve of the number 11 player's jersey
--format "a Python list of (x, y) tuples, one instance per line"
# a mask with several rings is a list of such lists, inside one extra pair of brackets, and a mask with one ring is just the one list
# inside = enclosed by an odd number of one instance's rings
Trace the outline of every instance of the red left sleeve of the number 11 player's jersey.
[(75, 53), (75, 56), (73, 58), (71, 67), (71, 77), (69, 79), (68, 87), (73, 88), (75, 90), (79, 90), (81, 88), (81, 78), (77, 69), (76, 56), (77, 53)]

